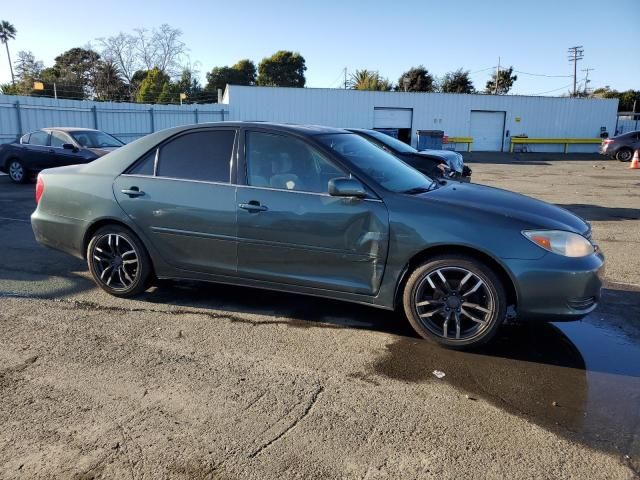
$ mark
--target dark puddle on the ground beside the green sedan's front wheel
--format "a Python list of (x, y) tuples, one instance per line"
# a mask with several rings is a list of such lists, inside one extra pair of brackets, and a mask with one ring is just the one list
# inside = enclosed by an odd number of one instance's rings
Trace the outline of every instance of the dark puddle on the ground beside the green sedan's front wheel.
[[(637, 298), (637, 292), (627, 293)], [(636, 304), (626, 318), (639, 312)], [(399, 338), (371, 373), (407, 382), (446, 381), (572, 440), (620, 455), (638, 472), (640, 339), (617, 325), (625, 317), (610, 313), (605, 306), (593, 323), (587, 318), (507, 326), (474, 353)], [(435, 369), (446, 377), (437, 380)]]

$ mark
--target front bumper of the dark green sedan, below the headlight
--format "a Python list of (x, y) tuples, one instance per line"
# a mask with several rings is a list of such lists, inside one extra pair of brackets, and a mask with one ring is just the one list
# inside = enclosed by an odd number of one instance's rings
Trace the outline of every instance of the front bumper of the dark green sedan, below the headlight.
[(594, 311), (600, 301), (604, 256), (584, 258), (548, 253), (539, 260), (509, 260), (520, 320), (572, 321)]

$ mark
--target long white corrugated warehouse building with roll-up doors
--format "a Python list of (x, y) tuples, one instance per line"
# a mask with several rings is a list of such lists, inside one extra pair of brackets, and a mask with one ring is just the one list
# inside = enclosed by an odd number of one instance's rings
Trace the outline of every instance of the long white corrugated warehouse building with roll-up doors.
[[(417, 146), (419, 130), (442, 130), (449, 137), (472, 137), (473, 151), (508, 151), (510, 137), (599, 138), (613, 135), (617, 99), (405, 93), (325, 88), (228, 85), (222, 103), (230, 120), (318, 124), (392, 130)], [(557, 152), (563, 145), (535, 145)], [(458, 144), (457, 149), (466, 149)], [(597, 144), (571, 145), (590, 152)]]

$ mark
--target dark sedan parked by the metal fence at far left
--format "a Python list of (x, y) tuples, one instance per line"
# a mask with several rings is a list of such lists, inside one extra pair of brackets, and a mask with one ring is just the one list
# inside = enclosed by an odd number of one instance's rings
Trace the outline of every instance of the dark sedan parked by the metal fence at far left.
[(124, 145), (108, 133), (89, 128), (43, 128), (14, 143), (0, 145), (0, 171), (16, 183), (45, 168), (88, 163)]

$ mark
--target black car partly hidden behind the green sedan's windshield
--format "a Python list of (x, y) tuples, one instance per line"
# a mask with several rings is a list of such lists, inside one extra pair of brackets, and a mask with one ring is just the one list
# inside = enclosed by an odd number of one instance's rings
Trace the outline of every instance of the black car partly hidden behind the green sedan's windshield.
[[(426, 175), (443, 176), (467, 182), (471, 179), (471, 169), (464, 165), (462, 155), (458, 152), (451, 150), (418, 151), (411, 145), (377, 130), (364, 128), (349, 128), (348, 130), (373, 142)], [(442, 164), (446, 165), (444, 171), (438, 168)]]

